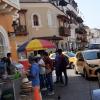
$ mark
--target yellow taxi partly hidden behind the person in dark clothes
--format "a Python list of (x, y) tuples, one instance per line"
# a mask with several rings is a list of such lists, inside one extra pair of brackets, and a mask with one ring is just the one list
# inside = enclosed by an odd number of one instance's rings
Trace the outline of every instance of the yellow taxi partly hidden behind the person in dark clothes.
[[(67, 52), (67, 51), (63, 52), (63, 54), (66, 57), (69, 58), (69, 66), (68, 66), (68, 68), (73, 68), (74, 67), (74, 63), (76, 61), (75, 54), (73, 52)], [(49, 57), (53, 60), (53, 62), (55, 62), (56, 53), (50, 54)]]

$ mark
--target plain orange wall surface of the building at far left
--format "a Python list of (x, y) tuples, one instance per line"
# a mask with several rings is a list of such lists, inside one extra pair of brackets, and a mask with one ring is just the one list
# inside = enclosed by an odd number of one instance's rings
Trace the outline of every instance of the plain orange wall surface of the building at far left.
[[(12, 16), (10, 15), (0, 15), (0, 25), (6, 30), (6, 32), (13, 32), (12, 27)], [(14, 37), (9, 37), (12, 59), (13, 61), (18, 61), (16, 52), (16, 39)]]

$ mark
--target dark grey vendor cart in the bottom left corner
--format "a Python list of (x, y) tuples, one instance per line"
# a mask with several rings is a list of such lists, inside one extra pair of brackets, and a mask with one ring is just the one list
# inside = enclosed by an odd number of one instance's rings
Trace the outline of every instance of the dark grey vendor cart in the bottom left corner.
[(21, 78), (0, 80), (0, 100), (19, 100), (20, 84)]

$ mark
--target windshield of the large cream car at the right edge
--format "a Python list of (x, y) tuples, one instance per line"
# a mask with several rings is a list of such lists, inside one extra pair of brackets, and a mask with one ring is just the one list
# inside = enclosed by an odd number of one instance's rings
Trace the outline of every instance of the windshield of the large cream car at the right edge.
[(83, 56), (86, 60), (100, 59), (100, 51), (84, 52)]

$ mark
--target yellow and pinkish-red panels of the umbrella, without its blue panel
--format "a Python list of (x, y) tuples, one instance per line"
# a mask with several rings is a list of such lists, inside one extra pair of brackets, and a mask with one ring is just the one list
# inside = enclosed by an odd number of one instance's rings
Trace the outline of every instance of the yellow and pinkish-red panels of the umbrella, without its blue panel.
[(45, 50), (48, 48), (55, 48), (55, 47), (56, 46), (48, 40), (34, 39), (27, 44), (26, 51)]

